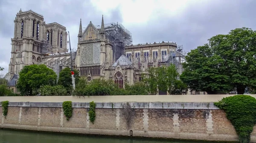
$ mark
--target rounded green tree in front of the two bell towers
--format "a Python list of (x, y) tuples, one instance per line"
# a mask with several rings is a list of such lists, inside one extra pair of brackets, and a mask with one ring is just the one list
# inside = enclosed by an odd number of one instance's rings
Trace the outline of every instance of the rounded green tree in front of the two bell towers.
[(21, 95), (37, 95), (41, 86), (53, 86), (57, 82), (56, 73), (44, 64), (24, 66), (19, 75), (17, 88)]

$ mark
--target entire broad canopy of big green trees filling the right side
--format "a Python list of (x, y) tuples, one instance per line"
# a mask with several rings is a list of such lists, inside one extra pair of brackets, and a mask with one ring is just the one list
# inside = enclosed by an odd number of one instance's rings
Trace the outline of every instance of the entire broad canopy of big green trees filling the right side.
[(236, 28), (208, 41), (191, 50), (183, 63), (180, 79), (191, 90), (244, 94), (246, 87), (256, 88), (256, 31)]

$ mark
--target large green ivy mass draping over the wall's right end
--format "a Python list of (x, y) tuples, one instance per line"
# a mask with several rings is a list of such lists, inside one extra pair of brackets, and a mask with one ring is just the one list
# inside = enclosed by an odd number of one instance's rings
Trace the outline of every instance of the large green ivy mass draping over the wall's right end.
[(234, 95), (214, 104), (226, 112), (240, 143), (250, 143), (250, 133), (256, 123), (256, 99), (250, 95)]

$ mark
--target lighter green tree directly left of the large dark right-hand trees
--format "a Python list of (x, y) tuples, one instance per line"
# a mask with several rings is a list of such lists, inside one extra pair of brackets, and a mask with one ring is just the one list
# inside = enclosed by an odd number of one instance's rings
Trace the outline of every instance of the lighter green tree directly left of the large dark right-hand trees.
[(149, 94), (156, 95), (158, 90), (168, 91), (171, 95), (187, 93), (186, 84), (178, 79), (179, 73), (174, 64), (168, 67), (150, 67), (148, 74), (143, 74), (143, 83)]

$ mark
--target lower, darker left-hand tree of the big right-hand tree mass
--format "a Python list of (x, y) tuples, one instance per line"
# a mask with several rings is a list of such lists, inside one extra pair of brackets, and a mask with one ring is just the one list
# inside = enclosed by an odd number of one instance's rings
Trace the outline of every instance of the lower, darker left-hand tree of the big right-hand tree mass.
[(221, 66), (224, 60), (215, 55), (208, 44), (191, 50), (183, 63), (180, 79), (195, 91), (206, 91), (208, 94), (229, 91), (229, 76), (226, 68)]

